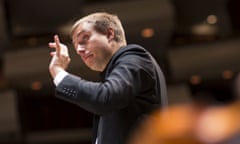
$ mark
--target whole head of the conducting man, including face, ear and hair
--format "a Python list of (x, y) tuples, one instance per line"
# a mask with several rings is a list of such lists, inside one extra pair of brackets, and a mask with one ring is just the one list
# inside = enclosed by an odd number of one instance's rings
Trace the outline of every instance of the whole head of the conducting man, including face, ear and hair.
[(72, 27), (72, 41), (84, 63), (103, 71), (112, 55), (126, 45), (119, 18), (109, 13), (93, 13), (78, 20)]

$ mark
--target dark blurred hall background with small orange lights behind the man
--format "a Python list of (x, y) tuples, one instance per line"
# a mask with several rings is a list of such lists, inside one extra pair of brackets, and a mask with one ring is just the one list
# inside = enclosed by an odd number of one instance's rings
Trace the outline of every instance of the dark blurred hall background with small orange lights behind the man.
[(92, 115), (54, 97), (48, 73), (54, 34), (69, 45), (69, 72), (98, 80), (74, 53), (71, 24), (108, 11), (128, 43), (148, 49), (166, 76), (169, 105), (238, 99), (238, 0), (0, 0), (0, 143), (90, 144)]

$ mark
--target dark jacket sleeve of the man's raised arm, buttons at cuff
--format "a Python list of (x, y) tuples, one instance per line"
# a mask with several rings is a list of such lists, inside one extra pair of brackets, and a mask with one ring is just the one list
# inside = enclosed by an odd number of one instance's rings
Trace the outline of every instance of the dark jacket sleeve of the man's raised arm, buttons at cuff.
[(56, 87), (56, 96), (102, 115), (126, 107), (140, 90), (152, 87), (152, 81), (151, 74), (137, 64), (122, 63), (104, 82), (90, 82), (70, 74)]

